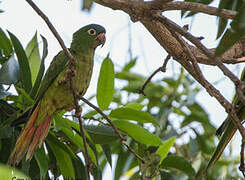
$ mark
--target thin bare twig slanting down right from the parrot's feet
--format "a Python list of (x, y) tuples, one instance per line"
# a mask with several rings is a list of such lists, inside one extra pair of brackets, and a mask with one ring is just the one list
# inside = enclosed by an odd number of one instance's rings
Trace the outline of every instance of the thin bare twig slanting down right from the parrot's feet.
[(85, 99), (84, 97), (80, 97), (80, 99), (85, 102), (87, 105), (89, 105), (90, 107), (92, 107), (95, 111), (97, 111), (99, 114), (101, 114), (101, 116), (103, 118), (105, 118), (107, 120), (107, 122), (111, 125), (111, 127), (113, 128), (113, 130), (115, 131), (115, 133), (119, 136), (121, 143), (127, 147), (127, 149), (134, 154), (134, 156), (139, 159), (142, 163), (145, 163), (145, 161), (126, 143), (126, 139), (121, 135), (121, 133), (119, 132), (119, 130), (117, 129), (117, 127), (112, 123), (112, 121), (109, 119), (109, 117), (103, 113), (98, 107), (96, 107), (95, 105), (93, 105), (91, 102), (89, 102), (87, 99)]

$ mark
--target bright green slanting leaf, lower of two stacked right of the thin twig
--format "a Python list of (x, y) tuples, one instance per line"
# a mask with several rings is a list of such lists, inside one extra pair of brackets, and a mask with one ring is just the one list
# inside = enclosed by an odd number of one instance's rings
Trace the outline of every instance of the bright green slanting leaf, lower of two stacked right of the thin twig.
[(162, 144), (162, 140), (158, 136), (150, 133), (137, 124), (133, 124), (123, 120), (115, 120), (113, 121), (113, 124), (118, 129), (128, 133), (129, 136), (142, 144), (152, 146), (159, 146)]

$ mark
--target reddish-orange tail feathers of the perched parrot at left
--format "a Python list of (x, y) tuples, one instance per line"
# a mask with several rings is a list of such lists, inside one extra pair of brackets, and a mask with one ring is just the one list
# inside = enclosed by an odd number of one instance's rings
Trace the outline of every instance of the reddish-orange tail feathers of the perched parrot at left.
[(51, 116), (46, 116), (44, 121), (40, 124), (35, 124), (40, 105), (38, 105), (35, 111), (32, 113), (29, 121), (27, 122), (25, 128), (22, 130), (20, 136), (17, 139), (14, 150), (12, 151), (8, 164), (17, 164), (26, 154), (26, 160), (30, 160), (34, 154), (35, 149), (42, 146), (44, 139), (46, 138), (50, 125)]

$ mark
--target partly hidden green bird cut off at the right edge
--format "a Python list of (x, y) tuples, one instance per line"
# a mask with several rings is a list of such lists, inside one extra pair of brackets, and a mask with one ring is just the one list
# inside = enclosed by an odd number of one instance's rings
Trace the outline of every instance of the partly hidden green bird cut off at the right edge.
[[(243, 72), (241, 74), (241, 81), (245, 82), (245, 68), (243, 69)], [(245, 95), (245, 91), (244, 91)], [(239, 120), (242, 122), (245, 120), (245, 105), (241, 102), (238, 95), (235, 94), (232, 104), (235, 105), (236, 108), (236, 114), (239, 118)], [(222, 125), (218, 128), (216, 131), (217, 135), (221, 136), (221, 139), (219, 141), (219, 144), (217, 145), (208, 165), (206, 168), (206, 172), (209, 168), (211, 168), (216, 161), (220, 158), (221, 154), (223, 153), (225, 147), (230, 142), (231, 138), (237, 131), (237, 127), (234, 125), (233, 120), (230, 115), (227, 116), (225, 121), (222, 123)]]

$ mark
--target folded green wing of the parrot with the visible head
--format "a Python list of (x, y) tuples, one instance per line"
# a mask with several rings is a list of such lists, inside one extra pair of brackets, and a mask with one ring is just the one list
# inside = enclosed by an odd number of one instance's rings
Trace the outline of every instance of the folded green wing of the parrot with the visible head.
[(38, 93), (35, 97), (35, 104), (43, 97), (48, 87), (52, 84), (55, 78), (65, 69), (67, 66), (68, 58), (64, 51), (60, 51), (51, 62), (45, 76), (41, 82)]

